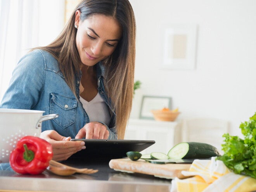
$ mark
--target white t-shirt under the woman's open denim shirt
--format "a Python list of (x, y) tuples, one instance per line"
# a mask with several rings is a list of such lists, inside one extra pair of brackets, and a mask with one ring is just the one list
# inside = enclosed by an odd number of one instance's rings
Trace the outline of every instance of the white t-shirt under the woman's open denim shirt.
[(82, 97), (80, 97), (80, 101), (83, 104), (83, 108), (85, 109), (87, 115), (89, 116), (90, 122), (97, 121), (105, 123), (107, 126), (109, 126), (109, 109), (105, 101), (102, 99), (102, 97), (100, 97), (99, 93), (97, 93), (97, 95), (90, 102), (86, 101)]

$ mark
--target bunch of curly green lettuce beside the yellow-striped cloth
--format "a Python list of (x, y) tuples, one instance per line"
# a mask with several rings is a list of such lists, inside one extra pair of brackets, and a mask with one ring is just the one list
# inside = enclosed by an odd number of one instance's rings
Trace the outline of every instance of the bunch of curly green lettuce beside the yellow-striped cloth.
[(217, 159), (234, 173), (256, 178), (256, 113), (249, 121), (241, 123), (239, 128), (244, 139), (225, 133), (225, 143), (221, 144), (224, 154)]

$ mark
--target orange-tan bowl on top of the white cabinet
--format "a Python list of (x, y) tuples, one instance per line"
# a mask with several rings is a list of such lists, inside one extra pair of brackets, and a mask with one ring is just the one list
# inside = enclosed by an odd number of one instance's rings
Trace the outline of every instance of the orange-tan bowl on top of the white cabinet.
[(151, 111), (156, 121), (175, 121), (180, 114), (179, 111), (174, 110), (152, 110)]

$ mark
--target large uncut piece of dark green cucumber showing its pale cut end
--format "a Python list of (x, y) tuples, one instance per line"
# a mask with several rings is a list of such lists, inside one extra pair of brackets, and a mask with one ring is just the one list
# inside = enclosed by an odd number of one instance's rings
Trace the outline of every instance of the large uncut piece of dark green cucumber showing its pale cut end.
[(168, 152), (170, 159), (206, 159), (220, 156), (213, 145), (199, 142), (183, 142), (175, 145)]

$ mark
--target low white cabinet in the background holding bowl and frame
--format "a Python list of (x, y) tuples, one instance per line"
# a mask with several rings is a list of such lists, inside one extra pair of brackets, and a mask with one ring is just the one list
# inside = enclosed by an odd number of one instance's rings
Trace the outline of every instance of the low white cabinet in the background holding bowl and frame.
[(125, 139), (155, 140), (156, 143), (141, 153), (163, 152), (165, 154), (180, 142), (180, 124), (171, 121), (130, 119), (126, 127)]

